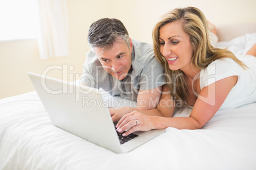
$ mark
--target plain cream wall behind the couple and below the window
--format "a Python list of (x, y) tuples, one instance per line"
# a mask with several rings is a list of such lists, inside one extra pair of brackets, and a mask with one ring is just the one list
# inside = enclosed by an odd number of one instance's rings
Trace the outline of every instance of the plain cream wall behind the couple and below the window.
[[(82, 65), (89, 47), (90, 24), (103, 17), (122, 20), (132, 39), (152, 43), (152, 28), (160, 15), (185, 6), (196, 6), (216, 25), (256, 23), (255, 0), (66, 0), (69, 17), (70, 55), (40, 60), (36, 40), (0, 42), (0, 98), (33, 91), (27, 72), (41, 73), (52, 65), (73, 66), (66, 74), (82, 74)], [(65, 70), (65, 69), (64, 69)], [(62, 79), (63, 70), (48, 75)], [(68, 77), (69, 79), (69, 77)]]

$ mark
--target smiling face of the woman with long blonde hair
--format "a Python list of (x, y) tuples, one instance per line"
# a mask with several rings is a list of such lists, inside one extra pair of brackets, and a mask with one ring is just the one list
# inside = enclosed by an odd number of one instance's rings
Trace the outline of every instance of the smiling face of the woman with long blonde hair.
[(180, 21), (167, 23), (159, 29), (160, 52), (169, 63), (171, 70), (191, 67), (193, 49), (190, 37), (183, 31)]

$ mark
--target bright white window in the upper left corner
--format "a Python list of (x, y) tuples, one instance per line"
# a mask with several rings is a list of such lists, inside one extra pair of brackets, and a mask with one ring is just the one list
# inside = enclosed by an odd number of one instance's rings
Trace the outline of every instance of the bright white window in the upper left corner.
[(36, 0), (0, 1), (0, 41), (36, 39), (38, 4)]

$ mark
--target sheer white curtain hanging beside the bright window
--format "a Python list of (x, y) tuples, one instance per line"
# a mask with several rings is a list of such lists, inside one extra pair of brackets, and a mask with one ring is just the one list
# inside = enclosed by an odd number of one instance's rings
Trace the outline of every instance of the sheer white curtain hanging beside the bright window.
[(41, 59), (69, 55), (66, 0), (38, 0)]

